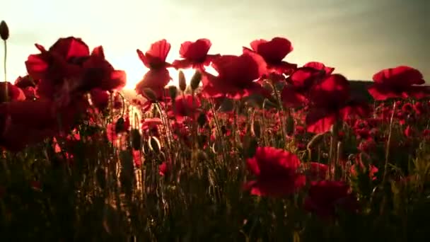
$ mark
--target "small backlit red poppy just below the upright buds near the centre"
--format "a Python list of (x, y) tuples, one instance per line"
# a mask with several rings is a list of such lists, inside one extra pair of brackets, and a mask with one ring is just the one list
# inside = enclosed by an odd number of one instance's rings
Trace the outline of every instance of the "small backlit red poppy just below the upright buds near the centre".
[(184, 117), (190, 117), (195, 120), (199, 113), (197, 112), (200, 108), (199, 98), (193, 95), (178, 96), (172, 107), (168, 111), (170, 117), (175, 117), (176, 121), (182, 122)]

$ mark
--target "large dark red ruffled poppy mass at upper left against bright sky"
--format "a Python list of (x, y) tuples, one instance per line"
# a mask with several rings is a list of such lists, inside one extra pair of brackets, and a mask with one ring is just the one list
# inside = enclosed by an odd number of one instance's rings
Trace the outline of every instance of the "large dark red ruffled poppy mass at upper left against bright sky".
[(54, 98), (64, 87), (72, 93), (92, 88), (112, 91), (125, 85), (124, 71), (116, 71), (106, 61), (101, 46), (90, 55), (85, 42), (69, 37), (60, 38), (48, 51), (41, 45), (36, 47), (41, 53), (31, 54), (25, 64), (30, 77), (40, 79), (37, 94), (43, 98)]

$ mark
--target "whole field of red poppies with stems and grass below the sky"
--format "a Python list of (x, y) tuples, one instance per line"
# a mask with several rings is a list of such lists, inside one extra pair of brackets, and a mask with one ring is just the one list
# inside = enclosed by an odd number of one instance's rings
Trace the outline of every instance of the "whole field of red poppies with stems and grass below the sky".
[(136, 50), (149, 71), (130, 98), (102, 46), (43, 44), (0, 83), (1, 241), (430, 238), (419, 70), (378, 71), (369, 101), (335, 67), (287, 62), (286, 38), (238, 56), (187, 41), (172, 63), (159, 40)]

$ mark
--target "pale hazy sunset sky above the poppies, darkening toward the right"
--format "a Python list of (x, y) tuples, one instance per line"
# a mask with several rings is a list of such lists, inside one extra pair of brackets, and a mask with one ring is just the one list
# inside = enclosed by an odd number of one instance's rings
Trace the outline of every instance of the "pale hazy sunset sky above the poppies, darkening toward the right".
[(241, 54), (252, 40), (284, 37), (294, 47), (288, 62), (323, 62), (351, 80), (371, 80), (380, 69), (408, 65), (430, 82), (430, 0), (4, 0), (0, 5), (0, 20), (11, 35), (9, 81), (26, 74), (24, 62), (37, 53), (35, 43), (50, 47), (74, 36), (91, 49), (103, 45), (111, 64), (127, 71), (127, 88), (146, 71), (136, 49), (145, 52), (163, 38), (172, 45), (170, 61), (187, 40), (209, 38), (211, 54)]

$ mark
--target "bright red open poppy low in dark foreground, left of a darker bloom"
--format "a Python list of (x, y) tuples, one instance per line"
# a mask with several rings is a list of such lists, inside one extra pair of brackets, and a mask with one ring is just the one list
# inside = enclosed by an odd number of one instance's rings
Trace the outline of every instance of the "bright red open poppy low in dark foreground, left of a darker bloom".
[(291, 195), (306, 183), (297, 169), (301, 162), (295, 154), (283, 149), (258, 147), (255, 156), (247, 161), (256, 180), (245, 184), (245, 190), (258, 196)]

